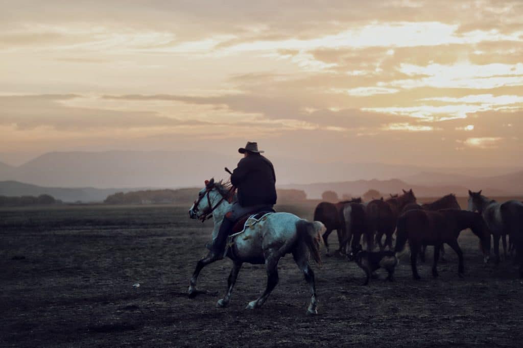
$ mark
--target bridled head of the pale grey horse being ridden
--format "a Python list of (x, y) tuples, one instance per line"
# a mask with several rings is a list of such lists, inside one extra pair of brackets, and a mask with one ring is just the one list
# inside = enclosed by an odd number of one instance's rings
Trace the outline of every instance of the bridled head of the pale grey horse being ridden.
[(228, 185), (221, 181), (215, 182), (214, 178), (206, 180), (205, 187), (198, 192), (198, 198), (189, 209), (189, 217), (205, 221), (212, 216), (211, 214), (216, 208), (229, 200), (231, 195)]

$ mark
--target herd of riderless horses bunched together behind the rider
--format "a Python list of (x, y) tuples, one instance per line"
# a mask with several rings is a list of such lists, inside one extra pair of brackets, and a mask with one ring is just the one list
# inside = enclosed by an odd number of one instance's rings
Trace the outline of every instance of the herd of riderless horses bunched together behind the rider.
[[(331, 256), (328, 236), (337, 231), (337, 252), (354, 259), (367, 244), (367, 250), (389, 248), (400, 253), (406, 242), (411, 250), (411, 266), (414, 279), (419, 279), (416, 268), (418, 254), (425, 262), (427, 246), (434, 246), (433, 275), (438, 276), (437, 263), (445, 253), (447, 244), (458, 255), (458, 273), (463, 275), (463, 252), (458, 236), (464, 229), (471, 229), (480, 239), (485, 263), (490, 258), (491, 236), (494, 241), (495, 263), (499, 264), (499, 239), (503, 240), (503, 253), (507, 259), (506, 237), (509, 236), (509, 256), (519, 263), (519, 276), (523, 278), (523, 202), (510, 200), (498, 203), (486, 198), (482, 191), (469, 191), (468, 210), (461, 207), (454, 194), (425, 204), (418, 204), (414, 192), (403, 190), (401, 195), (388, 199), (362, 202), (361, 198), (338, 203), (321, 202), (314, 210), (314, 221), (325, 225), (323, 234), (327, 256)], [(393, 247), (393, 235), (396, 244)], [(383, 241), (385, 236), (385, 241)]]

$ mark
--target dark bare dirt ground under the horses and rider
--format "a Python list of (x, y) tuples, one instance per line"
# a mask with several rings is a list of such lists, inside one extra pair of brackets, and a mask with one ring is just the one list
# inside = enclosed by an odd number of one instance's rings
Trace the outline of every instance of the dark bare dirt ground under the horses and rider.
[[(279, 206), (311, 218), (314, 206)], [(523, 283), (510, 261), (482, 264), (477, 238), (464, 231), (465, 277), (447, 248), (438, 279), (427, 264), (412, 280), (402, 259), (396, 281), (361, 286), (363, 273), (341, 257), (313, 265), (319, 315), (306, 316), (308, 286), (292, 257), (259, 310), (245, 310), (266, 282), (244, 265), (229, 308), (231, 262), (202, 271), (195, 299), (190, 274), (205, 252), (211, 222), (181, 206), (63, 206), (0, 211), (2, 346), (520, 346)], [(329, 239), (337, 245), (335, 233)], [(323, 252), (324, 253), (324, 252)], [(133, 287), (139, 283), (140, 287)]]

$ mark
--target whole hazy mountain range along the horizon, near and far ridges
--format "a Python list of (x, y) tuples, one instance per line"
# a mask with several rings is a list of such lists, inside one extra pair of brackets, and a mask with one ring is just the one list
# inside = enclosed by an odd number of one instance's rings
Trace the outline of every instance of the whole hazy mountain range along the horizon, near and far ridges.
[[(325, 190), (334, 190), (340, 195), (360, 195), (368, 189), (389, 193), (401, 192), (402, 188), (413, 188), (419, 196), (449, 192), (464, 195), (467, 189), (483, 189), (492, 195), (523, 194), (523, 170), (518, 167), (317, 164), (294, 158), (268, 157), (275, 166), (278, 187), (304, 190), (311, 199), (320, 198)], [(52, 188), (53, 192), (63, 189), (55, 198), (64, 201), (99, 201), (117, 191), (141, 188), (200, 187), (211, 177), (228, 178), (223, 168), (234, 169), (240, 159), (239, 154), (196, 151), (52, 152), (20, 166), (0, 163), (0, 181), (10, 181), (4, 185), (9, 189), (4, 188), (0, 194), (20, 195), (20, 192), (39, 190), (35, 187), (22, 189), (13, 181), (44, 187), (48, 191)], [(66, 188), (79, 191), (72, 194)]]

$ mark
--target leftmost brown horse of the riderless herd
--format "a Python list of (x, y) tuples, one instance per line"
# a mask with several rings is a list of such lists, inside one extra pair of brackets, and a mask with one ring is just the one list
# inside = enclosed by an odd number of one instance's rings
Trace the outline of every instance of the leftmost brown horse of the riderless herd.
[(350, 201), (342, 201), (338, 203), (321, 202), (314, 209), (314, 221), (321, 221), (325, 225), (325, 233), (323, 234), (323, 242), (327, 249), (327, 256), (330, 256), (328, 248), (328, 236), (333, 230), (336, 230), (339, 242), (339, 252), (344, 252), (344, 229), (345, 219), (343, 216), (343, 208), (350, 203), (361, 203), (361, 198), (355, 198)]

